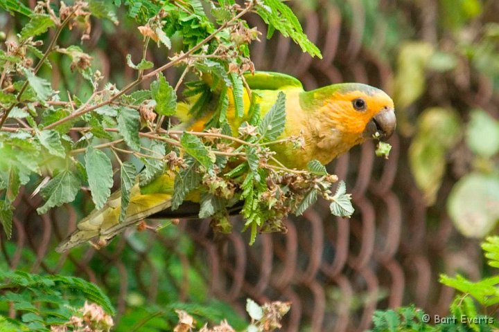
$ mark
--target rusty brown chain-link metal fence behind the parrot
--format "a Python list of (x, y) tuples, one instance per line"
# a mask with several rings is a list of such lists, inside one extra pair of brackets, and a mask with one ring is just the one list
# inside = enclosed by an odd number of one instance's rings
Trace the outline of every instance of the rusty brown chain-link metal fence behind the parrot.
[[(362, 48), (364, 22), (360, 1), (349, 3), (358, 10), (349, 24), (342, 20), (338, 8), (327, 1), (318, 10), (304, 12), (304, 30), (322, 49), (324, 59), (301, 53), (289, 39), (262, 38), (252, 50), (256, 68), (295, 75), (308, 89), (355, 80), (392, 92), (392, 66)], [(381, 10), (391, 10), (393, 6), (390, 1), (381, 2)], [(265, 35), (259, 19), (248, 19)], [(435, 22), (423, 20), (423, 24)], [(91, 41), (94, 46), (99, 33), (96, 26), (96, 40)], [(132, 47), (131, 42), (127, 45), (130, 39), (123, 36), (123, 40), (109, 47), (118, 53), (130, 52), (123, 50), (125, 46)], [(104, 66), (112, 71), (112, 59), (102, 51), (100, 56)], [(168, 75), (173, 77), (175, 73)], [(466, 104), (489, 105), (490, 109), (491, 88), (487, 82), (482, 83), (484, 86), (478, 91), (463, 95), (462, 99)], [(356, 213), (349, 220), (331, 216), (328, 205), (319, 201), (304, 216), (286, 221), (287, 234), (262, 234), (251, 247), (247, 245), (247, 234), (235, 231), (214, 237), (209, 220), (181, 221), (170, 226), (179, 230), (175, 237), (150, 233), (147, 236), (154, 241), (141, 248), (123, 236), (114, 240), (112, 249), (88, 248), (78, 251), (78, 256), (69, 253), (55, 257), (55, 243), (75, 227), (77, 212), (65, 205), (38, 216), (35, 209), (41, 203), (40, 197), (30, 199), (25, 192), (16, 202), (12, 240), (6, 241), (2, 232), (1, 257), (12, 269), (31, 264), (31, 272), (35, 273), (58, 273), (70, 264), (72, 273), (105, 289), (109, 284), (108, 272), (115, 270), (120, 275), (119, 290), (115, 290), (120, 313), (127, 305), (130, 266), (125, 264), (130, 261), (134, 262), (134, 283), (142, 295), (152, 303), (157, 299), (164, 271), (155, 267), (150, 252), (159, 243), (177, 253), (184, 272), (189, 266), (200, 267), (211, 297), (229, 302), (241, 313), (246, 297), (258, 302), (291, 301), (285, 331), (362, 331), (369, 328), (377, 308), (410, 303), (430, 314), (445, 315), (453, 291), (438, 284), (438, 274), (452, 274), (459, 269), (478, 278), (482, 255), (477, 243), (463, 239), (454, 230), (444, 201), (430, 210), (426, 208), (408, 168), (410, 140), (395, 135), (389, 143), (393, 148), (388, 160), (376, 158), (374, 145), (367, 142), (329, 166), (331, 172), (345, 179), (353, 194)], [(451, 178), (446, 178), (442, 196), (446, 196), (452, 183)], [(438, 222), (428, 223), (429, 215)], [(241, 228), (238, 218), (234, 223), (236, 230)], [(191, 255), (177, 248), (178, 240), (185, 235), (194, 243)], [(136, 254), (126, 262), (125, 249)], [(47, 262), (49, 257), (51, 264)], [(100, 261), (100, 266), (91, 264), (92, 260)], [(176, 285), (179, 298), (189, 300), (189, 277), (185, 275), (182, 280)]]

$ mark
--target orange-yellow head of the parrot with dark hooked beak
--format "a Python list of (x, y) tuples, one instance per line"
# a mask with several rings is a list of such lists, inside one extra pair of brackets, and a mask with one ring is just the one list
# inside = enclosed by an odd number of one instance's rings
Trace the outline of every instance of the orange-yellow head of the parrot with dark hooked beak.
[(367, 139), (386, 140), (395, 131), (394, 102), (384, 91), (367, 84), (342, 83), (304, 94), (311, 127), (323, 163)]

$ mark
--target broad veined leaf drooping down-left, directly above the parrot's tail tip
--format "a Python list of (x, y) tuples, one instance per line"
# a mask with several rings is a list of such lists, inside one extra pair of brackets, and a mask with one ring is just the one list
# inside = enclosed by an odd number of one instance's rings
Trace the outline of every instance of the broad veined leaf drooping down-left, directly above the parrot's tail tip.
[(37, 208), (38, 214), (44, 214), (55, 206), (74, 201), (80, 186), (80, 178), (69, 169), (64, 169), (40, 191), (40, 194), (46, 199), (46, 203)]

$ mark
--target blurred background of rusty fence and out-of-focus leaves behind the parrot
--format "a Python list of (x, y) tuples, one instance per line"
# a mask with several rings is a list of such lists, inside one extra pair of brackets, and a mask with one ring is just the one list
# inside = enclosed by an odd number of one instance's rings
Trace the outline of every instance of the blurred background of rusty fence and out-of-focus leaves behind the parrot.
[[(446, 315), (453, 290), (439, 284), (440, 273), (490, 275), (479, 244), (499, 219), (499, 1), (288, 4), (323, 59), (276, 33), (252, 45), (256, 69), (289, 73), (306, 89), (364, 82), (394, 97), (398, 132), (389, 158), (376, 157), (367, 142), (328, 167), (353, 194), (351, 219), (331, 216), (319, 201), (286, 221), (287, 234), (262, 234), (252, 247), (234, 218), (236, 231), (227, 236), (214, 235), (209, 220), (181, 221), (157, 234), (126, 234), (102, 250), (59, 255), (56, 243), (91, 210), (89, 193), (38, 216), (42, 198), (30, 199), (27, 187), (16, 202), (12, 239), (0, 232), (0, 266), (95, 282), (119, 311), (117, 331), (148, 315), (140, 331), (166, 329), (175, 313), (155, 313), (172, 303), (245, 326), (247, 297), (291, 301), (283, 331), (362, 331), (376, 309), (414, 303)], [(119, 11), (119, 26), (94, 20), (81, 45), (119, 86), (134, 78), (125, 56), (142, 52), (141, 35), (124, 16)], [(259, 17), (247, 21), (265, 36)], [(7, 36), (20, 24), (0, 13)], [(77, 39), (64, 31), (62, 44)], [(155, 47), (149, 55), (155, 64), (168, 56)], [(55, 54), (51, 62), (45, 75), (54, 89), (78, 90), (70, 60)], [(175, 82), (180, 73), (174, 68), (166, 77)]]

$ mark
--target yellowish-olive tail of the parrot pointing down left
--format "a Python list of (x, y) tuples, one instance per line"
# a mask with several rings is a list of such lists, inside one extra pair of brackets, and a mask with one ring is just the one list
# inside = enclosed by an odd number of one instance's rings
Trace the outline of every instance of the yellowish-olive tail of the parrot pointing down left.
[(55, 248), (57, 252), (67, 251), (74, 246), (97, 239), (98, 245), (105, 245), (116, 234), (123, 232), (139, 221), (171, 206), (171, 194), (141, 194), (139, 185), (130, 192), (130, 204), (125, 220), (119, 222), (121, 213), (121, 192), (114, 192), (100, 210), (94, 210), (76, 225), (76, 230)]

